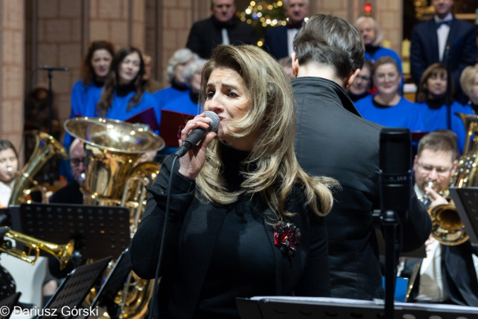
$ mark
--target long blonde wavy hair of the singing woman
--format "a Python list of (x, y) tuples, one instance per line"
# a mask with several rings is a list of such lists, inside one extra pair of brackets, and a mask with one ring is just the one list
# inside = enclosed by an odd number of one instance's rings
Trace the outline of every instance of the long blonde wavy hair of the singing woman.
[[(234, 203), (241, 194), (261, 194), (278, 219), (290, 213), (285, 203), (295, 184), (303, 192), (303, 202), (314, 213), (324, 216), (332, 208), (330, 188), (337, 181), (326, 177), (309, 177), (295, 157), (295, 101), (290, 79), (277, 61), (252, 45), (219, 45), (203, 67), (200, 103), (204, 105), (206, 86), (214, 69), (234, 69), (244, 80), (249, 92), (249, 110), (235, 121), (228, 121), (234, 137), (259, 131), (259, 138), (246, 159), (246, 179), (239, 191), (228, 191), (222, 177), (224, 164), (219, 140), (207, 147), (206, 162), (196, 179), (198, 190), (207, 201)], [(253, 164), (253, 165), (251, 165)], [(254, 167), (254, 169), (252, 169)], [(318, 205), (319, 203), (319, 205)]]

